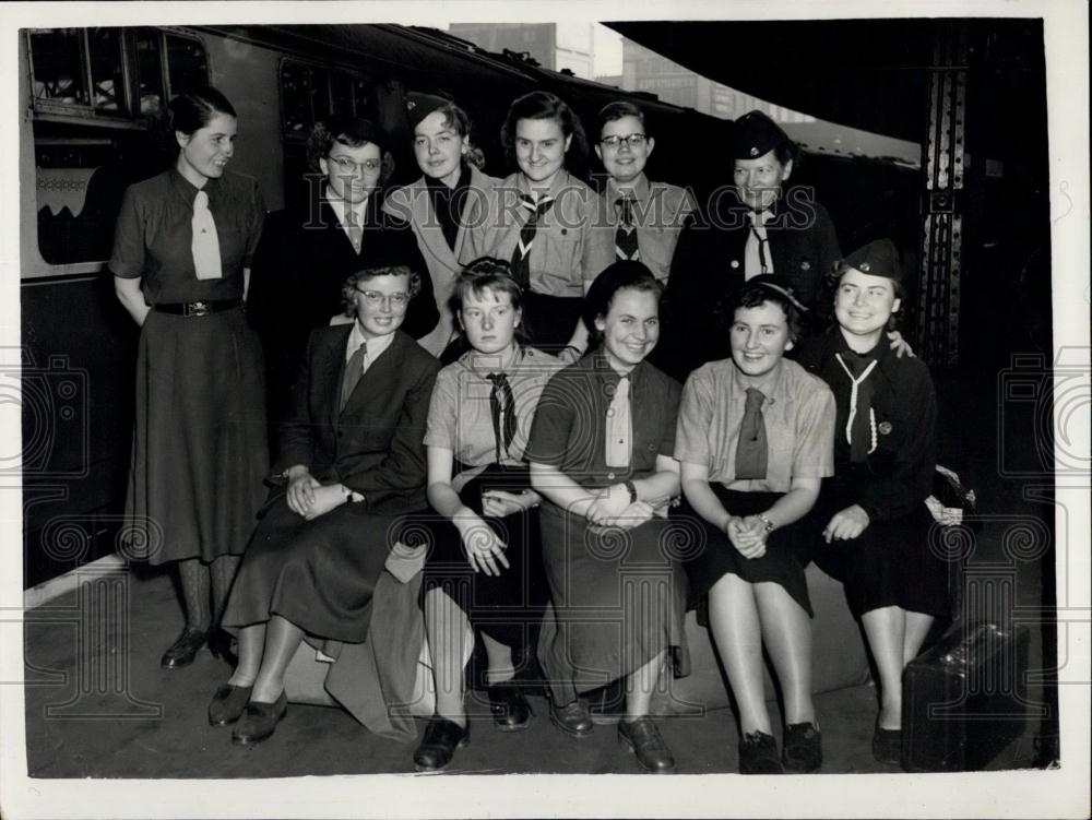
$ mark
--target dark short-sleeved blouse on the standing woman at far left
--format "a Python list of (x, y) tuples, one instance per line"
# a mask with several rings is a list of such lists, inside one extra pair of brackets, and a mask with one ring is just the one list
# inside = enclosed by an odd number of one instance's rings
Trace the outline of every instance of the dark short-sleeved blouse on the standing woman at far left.
[[(193, 201), (209, 195), (216, 223), (223, 277), (199, 280), (190, 249)], [(225, 173), (195, 188), (177, 169), (138, 182), (126, 191), (114, 236), (110, 270), (123, 278), (143, 277), (152, 305), (242, 297), (242, 269), (258, 246), (265, 206), (252, 177)]]

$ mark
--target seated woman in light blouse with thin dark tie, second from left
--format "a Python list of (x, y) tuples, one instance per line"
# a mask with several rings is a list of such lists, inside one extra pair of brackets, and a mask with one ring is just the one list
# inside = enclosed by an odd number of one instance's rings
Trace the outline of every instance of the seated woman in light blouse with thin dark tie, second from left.
[(428, 412), (428, 500), (442, 516), (423, 582), (436, 716), (414, 753), (442, 769), (466, 742), (463, 634), (473, 626), (489, 666), (486, 692), (501, 732), (527, 727), (512, 678), (534, 651), (546, 606), (538, 503), (523, 461), (538, 397), (561, 364), (526, 344), (523, 292), (508, 262), (478, 259), (455, 281), (452, 309), (470, 350), (436, 378)]

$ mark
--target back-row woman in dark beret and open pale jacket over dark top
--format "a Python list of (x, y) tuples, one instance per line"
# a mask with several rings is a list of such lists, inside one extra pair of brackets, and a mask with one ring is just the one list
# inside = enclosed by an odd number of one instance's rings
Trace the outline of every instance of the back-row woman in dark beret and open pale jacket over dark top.
[(484, 157), (471, 144), (471, 119), (453, 100), (407, 94), (406, 119), (423, 176), (391, 191), (383, 210), (410, 223), (428, 265), (440, 321), (420, 344), (438, 356), (455, 335), (449, 301), (462, 270), (458, 260), (468, 233), (466, 217), (473, 201), (488, 195), (500, 180), (479, 170)]

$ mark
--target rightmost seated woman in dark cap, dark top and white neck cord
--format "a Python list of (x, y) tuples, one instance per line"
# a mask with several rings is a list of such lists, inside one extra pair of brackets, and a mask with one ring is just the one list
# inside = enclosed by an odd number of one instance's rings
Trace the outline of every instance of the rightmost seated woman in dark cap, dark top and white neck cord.
[(841, 261), (834, 318), (802, 345), (798, 360), (820, 376), (838, 406), (834, 478), (817, 507), (827, 547), (816, 560), (843, 581), (879, 670), (880, 712), (873, 754), (901, 757), (902, 672), (937, 618), (950, 615), (948, 567), (929, 549), (925, 506), (936, 470), (937, 402), (928, 368), (900, 358), (885, 334), (903, 298), (889, 239)]

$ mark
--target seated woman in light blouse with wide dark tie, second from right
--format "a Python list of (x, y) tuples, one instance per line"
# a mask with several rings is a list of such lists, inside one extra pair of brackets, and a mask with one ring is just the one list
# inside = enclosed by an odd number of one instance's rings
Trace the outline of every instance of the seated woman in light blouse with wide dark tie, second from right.
[[(822, 762), (811, 703), (811, 603), (804, 570), (809, 516), (833, 473), (834, 399), (822, 380), (783, 358), (798, 332), (787, 282), (760, 275), (737, 294), (732, 357), (687, 380), (675, 457), (679, 511), (703, 549), (687, 561), (690, 602), (708, 597), (709, 626), (739, 708), (743, 774), (812, 772)], [(762, 646), (785, 704), (779, 758), (763, 691)]]

